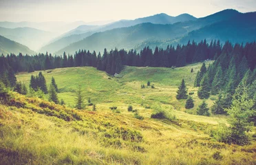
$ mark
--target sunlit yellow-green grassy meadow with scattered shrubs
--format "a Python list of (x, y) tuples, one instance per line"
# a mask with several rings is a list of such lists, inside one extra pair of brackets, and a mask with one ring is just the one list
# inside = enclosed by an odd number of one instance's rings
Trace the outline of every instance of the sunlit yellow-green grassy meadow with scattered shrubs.
[[(256, 164), (255, 141), (237, 146), (210, 137), (211, 129), (219, 122), (227, 123), (228, 116), (195, 115), (202, 100), (193, 81), (201, 65), (175, 69), (125, 67), (120, 78), (93, 67), (43, 71), (47, 86), (54, 76), (60, 89), (58, 98), (63, 98), (67, 107), (43, 103), (47, 106), (42, 108), (41, 99), (14, 93), (14, 100), (25, 105), (0, 105), (0, 164)], [(30, 76), (21, 73), (17, 79), (28, 87)], [(175, 98), (182, 78), (188, 90), (195, 93), (195, 107), (189, 111), (184, 109), (185, 100)], [(155, 89), (140, 88), (147, 86), (148, 80)], [(92, 106), (81, 111), (70, 109), (75, 105), (78, 85), (83, 87), (85, 102), (91, 98), (96, 104), (96, 112), (92, 112)], [(206, 102), (209, 107), (213, 105), (211, 99)], [(151, 119), (154, 104), (170, 111), (178, 122)], [(144, 120), (134, 118), (134, 113), (127, 111), (129, 105)], [(113, 106), (120, 113), (109, 109)], [(63, 120), (63, 114), (73, 113), (81, 119)]]

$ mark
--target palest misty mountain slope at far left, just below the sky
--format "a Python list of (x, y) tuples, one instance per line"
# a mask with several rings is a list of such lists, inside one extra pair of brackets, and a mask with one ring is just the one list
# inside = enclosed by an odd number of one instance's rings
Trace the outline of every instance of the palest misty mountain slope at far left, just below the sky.
[(54, 38), (51, 32), (45, 32), (34, 28), (1, 28), (0, 35), (8, 39), (30, 47), (32, 50), (38, 50), (39, 47)]

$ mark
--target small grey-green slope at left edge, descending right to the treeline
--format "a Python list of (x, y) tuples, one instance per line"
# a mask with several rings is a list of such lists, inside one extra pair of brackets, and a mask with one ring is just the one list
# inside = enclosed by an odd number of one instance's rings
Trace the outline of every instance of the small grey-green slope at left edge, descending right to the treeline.
[(20, 52), (22, 54), (34, 54), (28, 47), (0, 36), (0, 54), (19, 54)]

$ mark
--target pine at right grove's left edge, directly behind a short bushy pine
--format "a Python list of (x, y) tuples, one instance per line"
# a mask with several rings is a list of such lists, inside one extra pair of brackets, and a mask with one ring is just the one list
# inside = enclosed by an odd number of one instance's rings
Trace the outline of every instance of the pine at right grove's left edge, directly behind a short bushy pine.
[(198, 89), (198, 97), (201, 99), (209, 98), (210, 91), (211, 91), (211, 87), (209, 84), (208, 74), (205, 74), (204, 78), (202, 79), (200, 88)]

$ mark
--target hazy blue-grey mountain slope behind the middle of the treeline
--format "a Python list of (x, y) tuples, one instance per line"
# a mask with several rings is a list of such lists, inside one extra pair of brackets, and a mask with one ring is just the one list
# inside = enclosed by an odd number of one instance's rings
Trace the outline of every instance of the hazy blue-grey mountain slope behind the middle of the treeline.
[(98, 32), (88, 36), (82, 41), (72, 43), (71, 45), (58, 51), (57, 54), (74, 53), (79, 49), (103, 51), (104, 48), (114, 49), (121, 47), (130, 49), (147, 40), (175, 39), (178, 36), (186, 34), (184, 28), (175, 28), (173, 25), (156, 25), (152, 23), (142, 23), (129, 28), (118, 28)]

